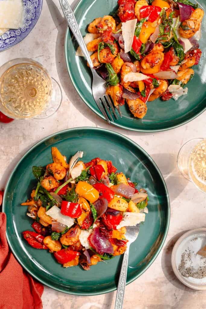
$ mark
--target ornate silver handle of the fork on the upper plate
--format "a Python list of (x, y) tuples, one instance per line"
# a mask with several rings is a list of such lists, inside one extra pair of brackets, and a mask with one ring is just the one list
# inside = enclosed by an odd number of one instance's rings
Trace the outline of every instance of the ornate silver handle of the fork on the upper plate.
[(90, 55), (89, 55), (87, 48), (86, 48), (86, 44), (84, 43), (82, 34), (80, 32), (77, 20), (74, 16), (74, 13), (73, 13), (68, 1), (67, 0), (59, 0), (59, 2), (60, 2), (60, 5), (61, 5), (61, 9), (64, 13), (64, 16), (67, 20), (67, 23), (69, 25), (69, 28), (73, 32), (75, 39), (77, 40), (80, 48), (82, 49), (82, 53), (84, 54), (87, 62), (89, 63), (90, 68), (93, 69), (93, 67), (94, 67), (93, 62), (91, 61)]

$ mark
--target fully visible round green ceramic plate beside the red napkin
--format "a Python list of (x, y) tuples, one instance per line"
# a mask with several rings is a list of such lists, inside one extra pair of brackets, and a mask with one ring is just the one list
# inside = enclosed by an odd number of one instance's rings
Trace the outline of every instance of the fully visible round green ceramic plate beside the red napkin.
[(169, 197), (162, 175), (149, 155), (130, 139), (104, 129), (76, 128), (53, 134), (20, 159), (6, 184), (3, 200), (6, 235), (16, 258), (36, 279), (65, 293), (95, 295), (116, 290), (122, 257), (98, 263), (90, 271), (81, 266), (65, 269), (48, 251), (30, 247), (22, 237), (23, 231), (32, 231), (33, 220), (26, 216), (27, 208), (20, 205), (30, 196), (36, 183), (32, 166), (52, 162), (52, 146), (57, 146), (68, 158), (83, 150), (84, 161), (95, 157), (112, 160), (119, 171), (148, 191), (149, 214), (130, 247), (127, 283), (132, 282), (153, 263), (162, 248), (170, 220)]

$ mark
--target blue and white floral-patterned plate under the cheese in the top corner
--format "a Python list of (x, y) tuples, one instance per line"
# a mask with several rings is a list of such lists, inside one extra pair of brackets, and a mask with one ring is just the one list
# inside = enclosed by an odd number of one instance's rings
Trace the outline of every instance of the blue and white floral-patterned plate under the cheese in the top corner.
[[(1, 1), (1, 0), (0, 0)], [(25, 21), (22, 28), (10, 29), (0, 36), (0, 52), (21, 42), (36, 25), (43, 0), (23, 0)]]

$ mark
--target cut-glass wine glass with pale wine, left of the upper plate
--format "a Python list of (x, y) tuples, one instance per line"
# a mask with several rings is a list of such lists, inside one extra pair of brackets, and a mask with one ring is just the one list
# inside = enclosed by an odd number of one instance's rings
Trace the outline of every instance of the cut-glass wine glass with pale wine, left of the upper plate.
[(13, 59), (0, 67), (0, 111), (13, 119), (44, 119), (62, 101), (61, 88), (37, 61)]

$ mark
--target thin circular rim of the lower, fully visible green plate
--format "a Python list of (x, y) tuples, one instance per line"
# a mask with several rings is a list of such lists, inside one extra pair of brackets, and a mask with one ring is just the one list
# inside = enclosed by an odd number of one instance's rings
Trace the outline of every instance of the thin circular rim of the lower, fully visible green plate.
[[(72, 132), (72, 131), (76, 131), (76, 130), (97, 130), (97, 131), (102, 131), (102, 132), (109, 132), (111, 134), (114, 134), (116, 136), (119, 136), (123, 139), (125, 139), (126, 141), (129, 141), (132, 143), (133, 146), (139, 148), (143, 153), (144, 155), (147, 156), (147, 158), (151, 161), (151, 163), (154, 165), (154, 167), (156, 168), (156, 171), (159, 173), (159, 176), (162, 180), (162, 183), (164, 185), (164, 188), (165, 188), (165, 191), (166, 191), (166, 199), (167, 199), (167, 205), (168, 205), (168, 209), (167, 209), (167, 216), (166, 216), (166, 225), (165, 225), (165, 232), (164, 232), (164, 235), (162, 237), (162, 241), (161, 241), (161, 244), (158, 248), (158, 250), (155, 252), (155, 254), (153, 255), (152, 259), (149, 261), (149, 263), (145, 266), (145, 269), (143, 269), (137, 276), (134, 276), (133, 278), (131, 278), (130, 280), (128, 280), (126, 282), (126, 285), (128, 285), (129, 283), (133, 282), (134, 280), (136, 280), (138, 277), (140, 277), (152, 264), (153, 262), (156, 260), (157, 256), (159, 255), (160, 251), (162, 250), (162, 247), (165, 243), (165, 240), (166, 240), (166, 237), (167, 237), (167, 234), (168, 234), (168, 230), (169, 230), (169, 225), (170, 225), (170, 197), (169, 197), (169, 192), (168, 192), (168, 189), (167, 189), (167, 186), (166, 186), (166, 182), (164, 180), (164, 177), (162, 176), (162, 173), (161, 171), (159, 170), (157, 164), (154, 162), (154, 160), (152, 159), (152, 157), (139, 145), (137, 144), (136, 142), (132, 141), (130, 138), (124, 136), (123, 134), (121, 133), (117, 133), (115, 131), (112, 131), (112, 130), (108, 130), (108, 129), (103, 129), (103, 128), (96, 128), (96, 127), (76, 127), (76, 128), (70, 128), (70, 129), (65, 129), (65, 130), (61, 130), (61, 131), (58, 131), (56, 133), (53, 133), (53, 134), (50, 134), (48, 135), (47, 137), (41, 139), (39, 142), (37, 142), (35, 145), (33, 145), (32, 147), (30, 147), (24, 155), (22, 155), (22, 157), (19, 159), (19, 161), (17, 162), (17, 164), (15, 165), (15, 167), (13, 168), (13, 170), (11, 171), (7, 181), (6, 181), (6, 186), (5, 186), (5, 189), (4, 189), (4, 197), (3, 197), (3, 201), (2, 201), (2, 212), (5, 212), (5, 207), (6, 207), (6, 192), (7, 192), (7, 189), (8, 189), (8, 185), (9, 185), (9, 182), (11, 180), (11, 177), (13, 176), (15, 170), (18, 168), (19, 164), (23, 161), (24, 157), (30, 153), (36, 146), (38, 146), (39, 144), (41, 144), (42, 142), (56, 136), (57, 134), (62, 134), (62, 133), (66, 133), (66, 132)], [(12, 251), (12, 253), (14, 254), (15, 258), (18, 260), (18, 262), (20, 263), (20, 265), (22, 265), (22, 267), (24, 269), (26, 269), (26, 271), (32, 275), (36, 280), (38, 280), (39, 282), (41, 282), (42, 284), (44, 284), (45, 286), (48, 286), (50, 287), (51, 289), (54, 289), (54, 290), (57, 290), (59, 292), (63, 292), (63, 293), (66, 293), (66, 294), (72, 294), (72, 295), (82, 295), (82, 296), (91, 296), (91, 295), (101, 295), (101, 294), (106, 294), (106, 293), (109, 293), (109, 292), (113, 292), (115, 290), (117, 290), (117, 286), (114, 287), (114, 288), (108, 288), (106, 290), (104, 290), (103, 292), (89, 292), (89, 293), (85, 293), (85, 292), (78, 292), (78, 291), (69, 291), (69, 290), (64, 290), (63, 288), (58, 288), (58, 287), (54, 287), (50, 284), (48, 284), (47, 282), (45, 282), (45, 280), (43, 279), (39, 279), (38, 276), (36, 276), (35, 273), (33, 273), (30, 269), (28, 269), (27, 266), (24, 265), (23, 261), (21, 261), (21, 259), (18, 257), (18, 255), (15, 253), (15, 250), (12, 248), (12, 245), (11, 245), (11, 242), (10, 242), (10, 239), (9, 239), (9, 235), (8, 235), (8, 227), (7, 227), (7, 224), (6, 224), (6, 239), (7, 239), (7, 242), (9, 244), (9, 247)]]

